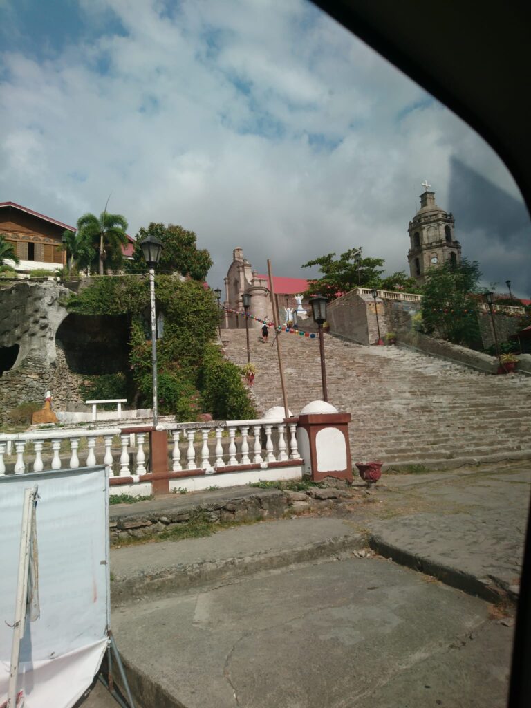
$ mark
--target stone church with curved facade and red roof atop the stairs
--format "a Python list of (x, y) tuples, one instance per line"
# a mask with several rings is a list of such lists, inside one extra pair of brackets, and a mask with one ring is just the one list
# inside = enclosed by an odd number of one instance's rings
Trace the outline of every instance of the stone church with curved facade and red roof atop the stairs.
[[(308, 290), (308, 281), (303, 278), (284, 278), (280, 275), (273, 275), (273, 287), (278, 302), (280, 320), (290, 321), (293, 318), (293, 311), (298, 308), (297, 319), (304, 319), (306, 313), (302, 309), (300, 302), (302, 297), (295, 298), (295, 295), (302, 296)], [(237, 248), (233, 251), (233, 260), (225, 278), (225, 327), (227, 329), (238, 329), (245, 326), (244, 319), (230, 312), (244, 311), (242, 295), (244, 292), (251, 295), (251, 306), (249, 313), (258, 319), (250, 319), (249, 326), (261, 328), (260, 320), (273, 321), (273, 307), (270, 301), (269, 278), (267, 275), (260, 275), (253, 270), (251, 263), (244, 258), (243, 249)]]

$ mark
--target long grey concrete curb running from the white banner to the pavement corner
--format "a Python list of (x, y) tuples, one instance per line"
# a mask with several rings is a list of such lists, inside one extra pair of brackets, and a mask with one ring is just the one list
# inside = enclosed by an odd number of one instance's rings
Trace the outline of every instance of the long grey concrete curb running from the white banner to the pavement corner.
[(111, 605), (122, 605), (131, 600), (141, 600), (154, 595), (167, 595), (183, 588), (195, 588), (212, 581), (230, 580), (258, 571), (285, 568), (297, 563), (314, 561), (345, 554), (367, 547), (359, 533), (338, 536), (316, 543), (305, 544), (285, 551), (271, 551), (251, 556), (232, 556), (219, 561), (202, 561), (190, 565), (175, 565), (161, 569), (149, 576), (139, 574), (133, 578), (110, 583)]

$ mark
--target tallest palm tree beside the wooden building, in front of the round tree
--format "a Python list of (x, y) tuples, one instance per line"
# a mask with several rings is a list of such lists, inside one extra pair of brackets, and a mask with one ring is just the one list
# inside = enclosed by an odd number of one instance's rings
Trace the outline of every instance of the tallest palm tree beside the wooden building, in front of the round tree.
[(98, 251), (99, 273), (103, 275), (103, 263), (107, 258), (118, 267), (122, 261), (122, 246), (127, 244), (127, 221), (120, 214), (101, 212), (98, 219), (93, 214), (85, 214), (77, 222), (79, 241), (84, 247)]

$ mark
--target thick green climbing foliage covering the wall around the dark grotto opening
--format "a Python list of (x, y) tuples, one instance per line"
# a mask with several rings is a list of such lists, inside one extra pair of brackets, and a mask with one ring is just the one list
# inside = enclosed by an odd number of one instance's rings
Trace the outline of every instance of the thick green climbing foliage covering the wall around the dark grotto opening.
[[(164, 314), (164, 335), (157, 341), (159, 413), (175, 415), (183, 422), (196, 420), (201, 412), (217, 419), (253, 417), (238, 367), (224, 360), (219, 348), (211, 344), (218, 321), (212, 290), (195, 280), (182, 282), (171, 275), (157, 275), (155, 296), (157, 313)], [(139, 405), (150, 407), (152, 343), (146, 276), (97, 278), (72, 296), (69, 310), (130, 316), (128, 377)], [(104, 384), (110, 384), (110, 379)]]

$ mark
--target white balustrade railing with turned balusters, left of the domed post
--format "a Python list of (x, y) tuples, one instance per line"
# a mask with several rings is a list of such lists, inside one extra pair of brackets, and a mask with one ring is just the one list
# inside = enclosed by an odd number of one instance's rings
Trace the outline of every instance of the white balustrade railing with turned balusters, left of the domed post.
[[(214, 474), (227, 466), (258, 464), (265, 468), (271, 462), (300, 459), (297, 420), (167, 423), (158, 429), (168, 433), (169, 469), (173, 472), (201, 469)], [(105, 464), (115, 476), (132, 477), (137, 482), (139, 476), (149, 471), (144, 450), (149, 444), (149, 433), (127, 430), (122, 433), (118, 427), (76, 428), (0, 435), (0, 475), (6, 474), (6, 464), (10, 472), (13, 467), (15, 474)]]

